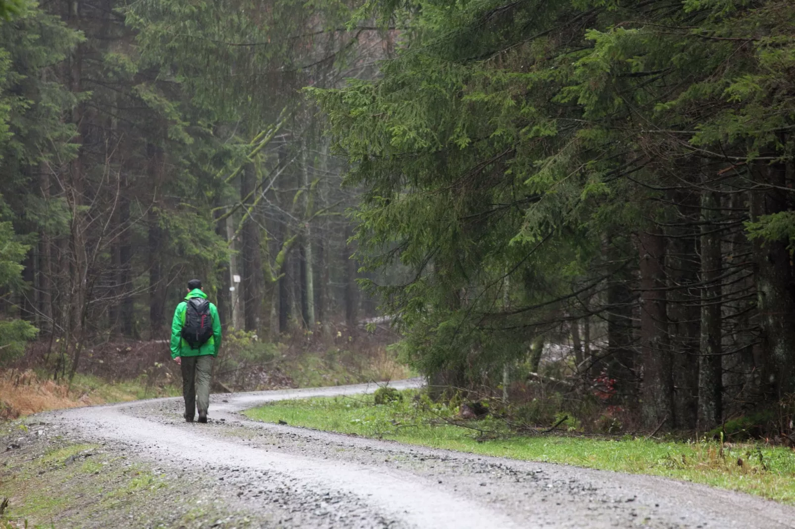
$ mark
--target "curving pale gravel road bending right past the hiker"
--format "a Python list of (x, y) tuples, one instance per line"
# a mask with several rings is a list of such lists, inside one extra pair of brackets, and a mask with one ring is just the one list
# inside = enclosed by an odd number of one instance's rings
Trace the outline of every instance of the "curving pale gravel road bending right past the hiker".
[[(405, 388), (418, 384), (418, 380), (409, 380), (392, 385)], [(162, 414), (157, 416), (156, 408), (165, 404), (176, 411), (178, 400), (77, 408), (56, 415), (86, 438), (130, 443), (143, 458), (184, 465), (185, 454), (189, 454), (192, 465), (246, 469), (258, 473), (261, 480), (278, 475), (296, 491), (300, 485), (358, 498), (359, 509), (365, 504), (372, 517), (368, 522), (367, 515), (360, 516), (355, 527), (795, 527), (793, 508), (701, 485), (564, 465), (478, 458), (251, 423), (237, 415), (238, 411), (273, 400), (350, 395), (373, 389), (373, 385), (359, 384), (214, 397), (212, 418), (283, 435), (285, 440), (280, 444), (284, 446), (278, 447), (282, 450), (252, 446), (210, 429), (202, 431), (204, 425), (193, 427), (164, 419)], [(291, 442), (301, 445), (301, 450), (287, 446)], [(336, 454), (343, 450), (350, 454)], [(397, 468), (382, 462), (384, 454), (410, 454), (413, 458), (425, 454), (425, 458), (435, 458), (436, 464)], [(437, 483), (436, 477), (442, 476), (444, 485), (439, 485), (442, 481)], [(481, 492), (487, 485), (489, 492)], [(341, 512), (336, 521), (325, 518), (317, 522), (318, 527), (354, 527), (343, 512), (352, 509), (350, 505), (345, 501), (337, 504), (335, 508)], [(307, 522), (304, 519), (302, 523)]]

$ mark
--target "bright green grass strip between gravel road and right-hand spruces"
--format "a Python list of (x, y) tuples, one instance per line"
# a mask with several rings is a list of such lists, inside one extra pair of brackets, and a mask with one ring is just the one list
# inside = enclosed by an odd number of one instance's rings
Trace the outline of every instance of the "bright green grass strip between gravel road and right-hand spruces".
[[(246, 411), (251, 419), (293, 426), (388, 438), (409, 444), (527, 461), (564, 463), (591, 469), (650, 474), (748, 492), (795, 504), (795, 454), (762, 443), (658, 442), (511, 434), (498, 419), (453, 426), (445, 419), (457, 409), (431, 403), (417, 390), (401, 399), (374, 404), (371, 395), (282, 400)], [(483, 431), (498, 438), (483, 439)]]

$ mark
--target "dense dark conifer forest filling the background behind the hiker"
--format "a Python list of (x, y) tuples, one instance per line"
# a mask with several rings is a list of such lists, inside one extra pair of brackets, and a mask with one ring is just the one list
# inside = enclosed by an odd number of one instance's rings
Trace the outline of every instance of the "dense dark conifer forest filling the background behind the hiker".
[(440, 395), (793, 433), (792, 2), (3, 9), (0, 363), (164, 340), (200, 277)]

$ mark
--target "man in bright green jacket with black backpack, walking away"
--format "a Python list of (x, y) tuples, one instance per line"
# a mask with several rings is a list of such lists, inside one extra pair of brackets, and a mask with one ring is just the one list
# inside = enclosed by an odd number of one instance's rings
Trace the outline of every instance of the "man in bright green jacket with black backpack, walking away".
[(188, 295), (176, 306), (171, 324), (171, 357), (182, 367), (182, 396), (185, 420), (193, 422), (199, 407), (199, 422), (207, 423), (210, 406), (212, 359), (221, 346), (218, 309), (207, 301), (200, 280), (188, 281)]

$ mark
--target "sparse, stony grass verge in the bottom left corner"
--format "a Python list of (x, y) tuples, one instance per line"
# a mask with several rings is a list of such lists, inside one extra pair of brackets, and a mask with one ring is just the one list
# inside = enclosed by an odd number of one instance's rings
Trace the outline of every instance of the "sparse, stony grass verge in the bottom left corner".
[(103, 446), (45, 439), (33, 433), (41, 424), (0, 426), (0, 439), (21, 445), (0, 465), (0, 502), (8, 500), (0, 529), (252, 526), (245, 514), (228, 511), (200, 475), (130, 461)]

